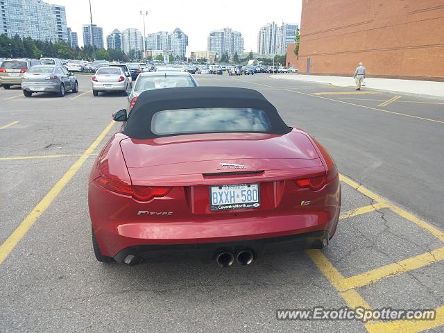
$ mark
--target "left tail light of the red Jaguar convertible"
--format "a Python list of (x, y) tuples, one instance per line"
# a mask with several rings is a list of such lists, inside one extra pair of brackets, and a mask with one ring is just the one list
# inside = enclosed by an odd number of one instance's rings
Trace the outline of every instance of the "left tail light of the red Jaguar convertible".
[(159, 186), (131, 186), (119, 180), (110, 180), (101, 176), (94, 180), (96, 184), (112, 192), (123, 194), (126, 196), (133, 196), (139, 201), (149, 201), (156, 197), (166, 196), (172, 187)]

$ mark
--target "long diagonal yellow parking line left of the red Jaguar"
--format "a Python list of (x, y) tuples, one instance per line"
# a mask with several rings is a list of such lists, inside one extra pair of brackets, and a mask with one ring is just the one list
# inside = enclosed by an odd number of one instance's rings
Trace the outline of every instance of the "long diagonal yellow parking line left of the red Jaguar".
[(97, 137), (94, 142), (87, 148), (85, 153), (83, 153), (80, 157), (78, 157), (78, 160), (71, 165), (71, 167), (68, 169), (68, 171), (65, 173), (65, 175), (58, 180), (56, 185), (53, 186), (52, 189), (49, 190), (49, 192), (40, 200), (40, 203), (37, 203), (37, 205), (34, 207), (34, 209), (26, 216), (26, 218), (22, 221), (22, 223), (19, 224), (17, 229), (10, 234), (8, 239), (3, 242), (0, 246), (0, 264), (8, 257), (9, 253), (17, 246), (19, 241), (24, 237), (26, 232), (33, 226), (35, 221), (44, 213), (44, 211), (51, 205), (53, 200), (58, 196), (60, 191), (67, 185), (69, 180), (73, 178), (73, 176), (76, 174), (78, 169), (82, 167), (83, 163), (87, 160), (87, 157), (94, 151), (94, 149), (99, 146), (99, 144), (102, 142), (105, 135), (108, 134), (108, 132), (111, 130), (112, 126), (114, 125), (114, 121), (111, 121), (108, 126), (102, 131), (102, 133)]

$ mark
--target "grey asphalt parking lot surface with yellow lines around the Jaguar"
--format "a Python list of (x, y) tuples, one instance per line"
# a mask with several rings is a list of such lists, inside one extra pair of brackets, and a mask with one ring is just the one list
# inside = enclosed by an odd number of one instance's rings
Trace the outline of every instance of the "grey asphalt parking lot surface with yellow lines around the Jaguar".
[[(117, 94), (89, 78), (64, 98), (0, 89), (0, 332), (444, 332), (444, 101), (255, 76), (196, 76), (262, 92), (341, 172), (323, 250), (222, 269), (192, 257), (104, 265), (87, 181), (118, 130)], [(434, 321), (278, 321), (276, 309), (436, 309)]]

